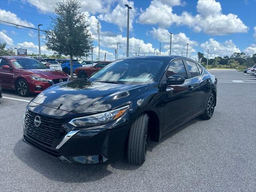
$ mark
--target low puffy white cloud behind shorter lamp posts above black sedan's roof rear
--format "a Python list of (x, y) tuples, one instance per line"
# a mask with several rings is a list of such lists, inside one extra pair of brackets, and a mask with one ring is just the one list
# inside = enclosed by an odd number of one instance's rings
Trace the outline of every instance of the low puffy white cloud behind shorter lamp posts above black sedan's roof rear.
[[(153, 30), (151, 30), (149, 33), (153, 36), (154, 39), (165, 43), (163, 44), (163, 48), (166, 49), (166, 54), (169, 54), (170, 34), (168, 30), (162, 28), (153, 28)], [(188, 38), (186, 34), (182, 32), (178, 34), (172, 34), (172, 55), (181, 55), (182, 52), (185, 53), (187, 49), (187, 43), (189, 44), (188, 54), (196, 52), (194, 47), (198, 46), (198, 42), (190, 40), (190, 38)]]

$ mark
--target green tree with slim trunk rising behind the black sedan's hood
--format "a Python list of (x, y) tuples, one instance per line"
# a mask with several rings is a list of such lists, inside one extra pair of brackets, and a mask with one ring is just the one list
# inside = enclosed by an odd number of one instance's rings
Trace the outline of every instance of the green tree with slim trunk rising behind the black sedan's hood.
[(86, 15), (80, 12), (81, 3), (77, 0), (58, 2), (54, 7), (57, 15), (45, 32), (45, 45), (48, 50), (70, 56), (70, 74), (73, 79), (73, 57), (81, 58), (89, 53), (92, 47), (90, 26)]

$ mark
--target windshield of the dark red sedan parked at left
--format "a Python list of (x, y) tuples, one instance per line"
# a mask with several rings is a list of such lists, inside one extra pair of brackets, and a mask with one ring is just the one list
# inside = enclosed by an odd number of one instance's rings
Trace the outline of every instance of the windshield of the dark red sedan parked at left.
[(47, 69), (44, 64), (35, 59), (11, 59), (11, 62), (18, 69)]

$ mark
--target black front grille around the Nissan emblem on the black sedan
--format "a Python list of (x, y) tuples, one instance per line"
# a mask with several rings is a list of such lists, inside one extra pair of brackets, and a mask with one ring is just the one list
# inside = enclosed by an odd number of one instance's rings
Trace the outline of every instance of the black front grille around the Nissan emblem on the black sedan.
[(62, 128), (66, 119), (59, 120), (38, 115), (41, 118), (41, 125), (36, 127), (34, 125), (36, 115), (38, 114), (29, 110), (25, 114), (24, 128), (27, 136), (44, 146), (55, 148), (66, 135), (66, 131)]

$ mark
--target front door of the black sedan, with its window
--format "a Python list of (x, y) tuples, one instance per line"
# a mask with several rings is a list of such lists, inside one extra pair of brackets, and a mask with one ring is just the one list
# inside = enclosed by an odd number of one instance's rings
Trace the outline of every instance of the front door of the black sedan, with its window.
[(168, 85), (164, 90), (165, 129), (172, 128), (192, 116), (194, 102), (194, 89), (190, 86), (190, 76), (187, 74), (184, 62), (181, 59), (175, 60), (169, 65), (162, 81), (166, 81), (166, 78), (170, 75), (180, 75), (186, 80), (181, 85)]

